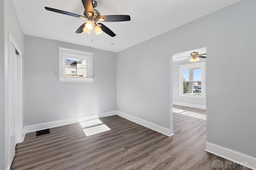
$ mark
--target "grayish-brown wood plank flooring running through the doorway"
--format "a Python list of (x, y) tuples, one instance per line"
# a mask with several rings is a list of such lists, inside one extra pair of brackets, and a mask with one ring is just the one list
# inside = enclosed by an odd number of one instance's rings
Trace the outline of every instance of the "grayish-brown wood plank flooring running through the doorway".
[[(219, 170), (249, 170), (238, 164), (226, 167), (229, 160), (204, 151), (206, 110), (173, 107), (172, 137), (117, 115), (82, 123), (84, 128), (75, 123), (38, 137), (27, 133), (16, 146), (11, 170), (216, 170), (211, 166), (216, 159), (224, 163)], [(97, 131), (105, 132), (84, 133)]]

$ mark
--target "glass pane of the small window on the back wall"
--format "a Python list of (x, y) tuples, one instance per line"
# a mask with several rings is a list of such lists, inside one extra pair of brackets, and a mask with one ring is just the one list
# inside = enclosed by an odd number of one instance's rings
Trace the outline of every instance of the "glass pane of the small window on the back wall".
[(86, 60), (66, 58), (65, 76), (87, 77)]

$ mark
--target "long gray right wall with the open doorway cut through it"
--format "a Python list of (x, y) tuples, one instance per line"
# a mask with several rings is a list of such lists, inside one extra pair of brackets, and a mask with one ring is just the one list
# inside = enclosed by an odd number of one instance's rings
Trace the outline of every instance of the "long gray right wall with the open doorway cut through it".
[(172, 128), (169, 55), (207, 47), (207, 141), (256, 157), (255, 6), (237, 2), (118, 52), (117, 109)]

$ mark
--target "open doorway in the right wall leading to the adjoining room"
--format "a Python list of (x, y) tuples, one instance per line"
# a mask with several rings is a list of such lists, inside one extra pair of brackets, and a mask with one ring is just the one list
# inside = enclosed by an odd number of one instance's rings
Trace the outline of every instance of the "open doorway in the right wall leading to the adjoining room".
[(177, 115), (196, 118), (206, 126), (206, 47), (170, 57), (173, 131)]

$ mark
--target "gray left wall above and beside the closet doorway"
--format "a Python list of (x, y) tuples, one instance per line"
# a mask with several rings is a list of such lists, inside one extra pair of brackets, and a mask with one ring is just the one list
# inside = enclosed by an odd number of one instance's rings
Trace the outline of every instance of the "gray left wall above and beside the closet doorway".
[[(18, 47), (22, 51), (24, 58), (24, 35), (20, 22), (18, 21), (12, 1), (0, 0), (0, 169), (7, 168), (8, 160), (5, 159), (7, 154), (5, 149), (8, 134), (8, 33), (11, 33)], [(22, 59), (24, 60), (24, 59)], [(23, 107), (24, 108), (24, 107)], [(24, 115), (23, 115), (24, 116)], [(24, 126), (24, 124), (23, 124)]]

